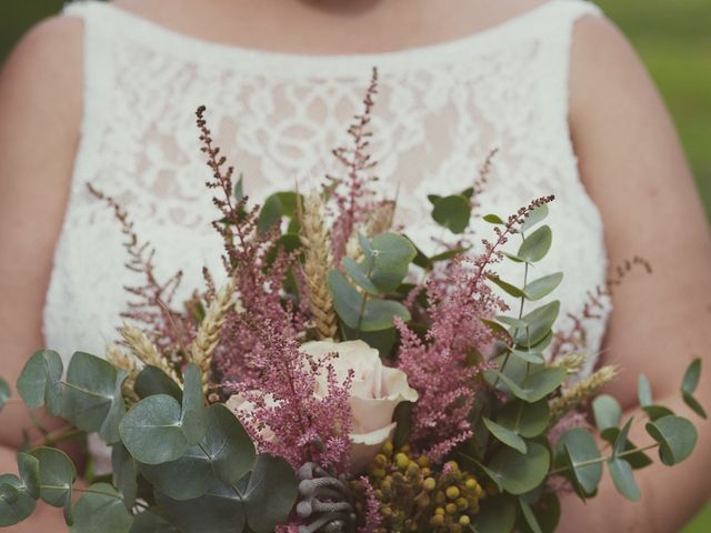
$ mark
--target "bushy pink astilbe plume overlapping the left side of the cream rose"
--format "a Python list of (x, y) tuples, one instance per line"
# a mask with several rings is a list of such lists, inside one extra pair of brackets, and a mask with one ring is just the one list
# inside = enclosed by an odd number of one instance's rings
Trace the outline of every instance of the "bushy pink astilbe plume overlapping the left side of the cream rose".
[[(316, 462), (336, 473), (349, 469), (352, 372), (337, 379), (330, 356), (314, 360), (270, 321), (253, 324), (258, 342), (246, 356), (258, 373), (230, 389), (247, 402), (237, 414), (261, 452), (284, 457), (294, 469)], [(317, 395), (326, 370), (327, 391)]]

